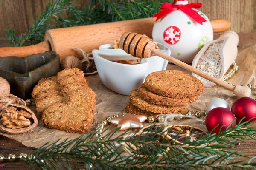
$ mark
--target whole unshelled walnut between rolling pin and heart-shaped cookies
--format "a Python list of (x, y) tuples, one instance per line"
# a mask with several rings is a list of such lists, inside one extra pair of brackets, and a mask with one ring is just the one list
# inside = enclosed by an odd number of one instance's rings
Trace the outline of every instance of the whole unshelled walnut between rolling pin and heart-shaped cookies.
[(75, 56), (68, 56), (61, 61), (61, 70), (65, 68), (79, 68), (82, 69), (82, 62)]

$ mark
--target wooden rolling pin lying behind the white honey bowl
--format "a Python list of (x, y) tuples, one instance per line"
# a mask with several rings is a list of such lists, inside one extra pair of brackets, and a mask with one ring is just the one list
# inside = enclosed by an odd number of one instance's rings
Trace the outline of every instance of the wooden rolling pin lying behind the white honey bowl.
[[(60, 55), (61, 60), (70, 55), (75, 55), (82, 59), (81, 52), (75, 50), (75, 48), (91, 52), (93, 49), (98, 49), (102, 44), (113, 43), (113, 40), (119, 39), (125, 32), (137, 32), (151, 37), (154, 23), (155, 18), (144, 18), (51, 29), (46, 31), (44, 41), (37, 45), (0, 48), (0, 57), (26, 57), (52, 50)], [(231, 23), (227, 20), (213, 20), (211, 23), (213, 32), (226, 31), (231, 26)]]

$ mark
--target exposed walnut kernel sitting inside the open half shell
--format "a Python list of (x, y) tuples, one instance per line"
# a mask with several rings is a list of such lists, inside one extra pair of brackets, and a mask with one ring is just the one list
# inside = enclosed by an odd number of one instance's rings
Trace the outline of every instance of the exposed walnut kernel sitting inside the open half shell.
[(1, 118), (3, 125), (6, 125), (9, 129), (19, 129), (29, 126), (32, 124), (29, 119), (32, 119), (31, 114), (23, 110), (17, 111), (17, 108), (14, 107), (6, 108)]

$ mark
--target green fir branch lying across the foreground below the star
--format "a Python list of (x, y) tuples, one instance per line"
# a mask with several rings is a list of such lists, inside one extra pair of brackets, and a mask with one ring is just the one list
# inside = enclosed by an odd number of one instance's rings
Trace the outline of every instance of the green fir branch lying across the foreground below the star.
[(187, 138), (182, 143), (175, 143), (173, 139), (160, 140), (161, 135), (165, 134), (163, 128), (153, 131), (154, 126), (136, 138), (133, 137), (137, 131), (131, 130), (113, 138), (119, 130), (116, 129), (105, 135), (103, 141), (93, 139), (96, 133), (90, 133), (73, 141), (65, 140), (46, 144), (32, 151), (30, 159), (23, 161), (26, 161), (32, 169), (41, 166), (56, 170), (72, 169), (72, 166), (77, 168), (85, 166), (87, 169), (92, 169), (90, 165), (97, 170), (167, 170), (170, 168), (249, 170), (256, 164), (250, 163), (251, 160), (248, 163), (236, 161), (237, 158), (246, 156), (227, 149), (235, 145), (234, 141), (239, 139), (240, 133), (247, 134), (247, 137), (255, 140), (256, 127), (249, 127), (252, 123), (239, 122), (236, 127), (226, 129), (217, 135), (211, 133), (201, 135), (194, 142), (190, 142)]

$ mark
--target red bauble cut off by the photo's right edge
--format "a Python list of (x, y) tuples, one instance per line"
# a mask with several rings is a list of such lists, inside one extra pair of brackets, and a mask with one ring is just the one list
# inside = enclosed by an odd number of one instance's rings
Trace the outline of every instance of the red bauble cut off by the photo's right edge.
[[(243, 117), (243, 122), (249, 121), (256, 117), (256, 101), (250, 97), (241, 97), (233, 103), (231, 111), (236, 115), (237, 121), (240, 121)], [(250, 122), (255, 121), (252, 119)]]

